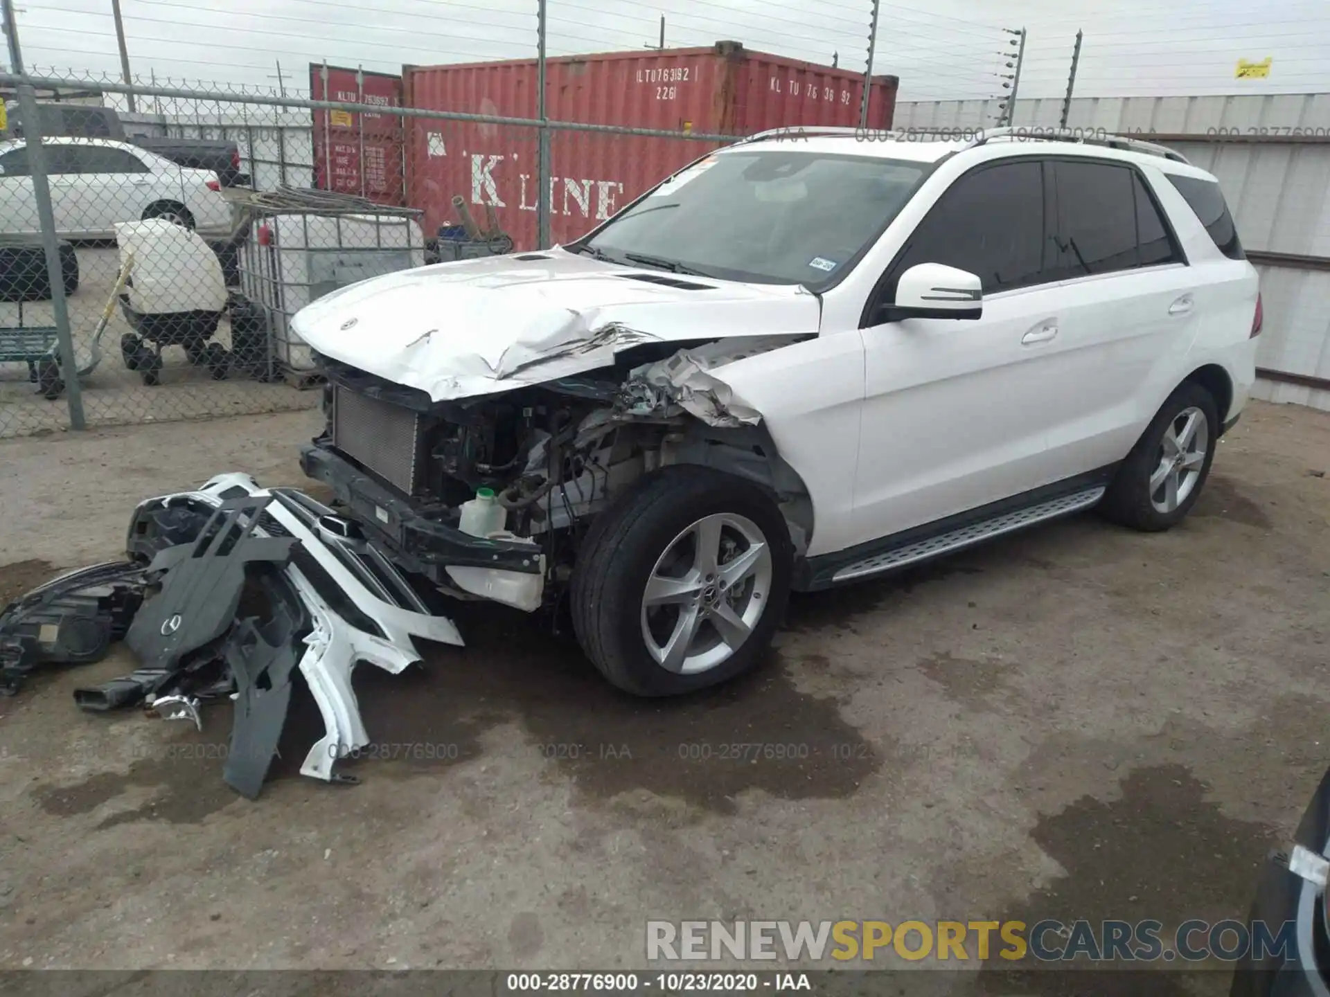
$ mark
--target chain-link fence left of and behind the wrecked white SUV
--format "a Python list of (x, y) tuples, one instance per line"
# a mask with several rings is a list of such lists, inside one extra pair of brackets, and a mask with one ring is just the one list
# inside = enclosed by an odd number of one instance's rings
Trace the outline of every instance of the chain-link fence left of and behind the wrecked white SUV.
[(0, 437), (315, 407), (303, 304), (567, 242), (728, 141), (402, 106), (400, 77), (364, 78), (0, 74)]

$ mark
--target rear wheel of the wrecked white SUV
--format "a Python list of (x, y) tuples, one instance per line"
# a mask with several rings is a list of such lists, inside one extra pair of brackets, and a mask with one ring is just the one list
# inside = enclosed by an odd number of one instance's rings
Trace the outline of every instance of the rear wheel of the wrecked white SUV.
[[(1214, 396), (1200, 384), (1181, 384), (1119, 467), (1100, 502), (1100, 514), (1146, 533), (1176, 526), (1201, 496), (1218, 437)], [(1178, 439), (1182, 440), (1181, 453), (1173, 443)], [(1158, 484), (1152, 488), (1154, 476)]]

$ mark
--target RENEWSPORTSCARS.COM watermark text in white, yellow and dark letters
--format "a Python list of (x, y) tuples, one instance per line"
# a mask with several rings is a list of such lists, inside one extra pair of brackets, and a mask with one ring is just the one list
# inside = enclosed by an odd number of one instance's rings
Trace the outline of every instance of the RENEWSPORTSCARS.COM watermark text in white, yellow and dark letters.
[(648, 921), (646, 958), (1233, 962), (1294, 952), (1294, 921)]

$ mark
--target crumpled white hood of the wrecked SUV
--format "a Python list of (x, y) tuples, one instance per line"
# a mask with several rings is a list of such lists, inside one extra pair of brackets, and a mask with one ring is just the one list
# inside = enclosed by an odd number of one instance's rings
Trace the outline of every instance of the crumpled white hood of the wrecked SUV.
[(321, 354), (435, 401), (604, 367), (638, 343), (818, 331), (821, 304), (802, 287), (634, 270), (564, 250), (523, 255), (362, 280), (302, 308), (291, 328)]

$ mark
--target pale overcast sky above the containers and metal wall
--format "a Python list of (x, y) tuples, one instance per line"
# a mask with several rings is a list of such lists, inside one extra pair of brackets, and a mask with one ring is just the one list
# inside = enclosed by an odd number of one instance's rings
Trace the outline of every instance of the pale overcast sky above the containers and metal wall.
[[(29, 68), (118, 74), (110, 0), (15, 0)], [(735, 39), (749, 48), (862, 72), (871, 0), (548, 0), (549, 53)], [(121, 0), (136, 76), (307, 90), (309, 64), (363, 65), (529, 57), (535, 0)], [(1108, 12), (1112, 11), (1112, 12)], [(1077, 96), (1330, 90), (1327, 0), (896, 0), (880, 5), (874, 69), (902, 100), (992, 97), (1027, 28), (1021, 97), (1061, 96), (1076, 29)], [(1271, 58), (1267, 80), (1237, 80), (1240, 58)]]

